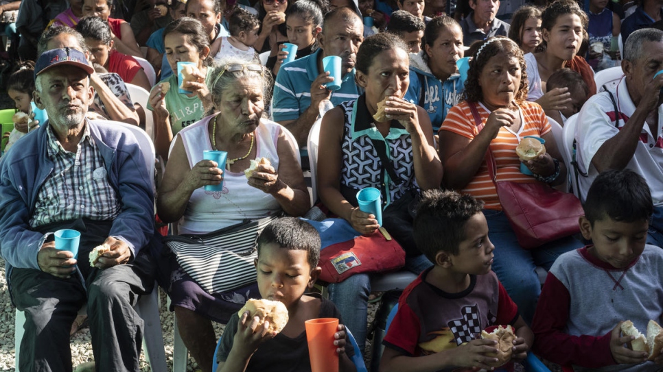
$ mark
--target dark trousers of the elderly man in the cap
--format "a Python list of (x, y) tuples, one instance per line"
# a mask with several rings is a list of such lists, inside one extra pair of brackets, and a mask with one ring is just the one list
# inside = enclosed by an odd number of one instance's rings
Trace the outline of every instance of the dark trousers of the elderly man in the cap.
[(12, 269), (10, 294), (25, 312), (21, 371), (71, 372), (69, 330), (87, 303), (97, 371), (140, 371), (143, 319), (133, 306), (154, 288), (154, 263), (146, 250), (129, 264), (94, 269), (87, 256), (103, 243), (110, 225), (94, 221), (51, 224), (40, 232), (73, 228), (81, 233), (79, 275), (60, 279), (35, 269)]

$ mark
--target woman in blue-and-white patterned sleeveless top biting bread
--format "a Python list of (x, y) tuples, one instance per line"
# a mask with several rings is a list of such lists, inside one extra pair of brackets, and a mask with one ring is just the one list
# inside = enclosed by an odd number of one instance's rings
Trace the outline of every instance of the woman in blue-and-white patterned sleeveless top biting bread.
[[(410, 84), (410, 61), (405, 43), (390, 34), (371, 36), (362, 43), (357, 61), (356, 81), (364, 88), (364, 95), (356, 101), (342, 103), (323, 117), (318, 193), (331, 212), (346, 219), (358, 232), (372, 234), (380, 226), (373, 214), (357, 207), (358, 190), (365, 187), (382, 190), (384, 210), (412, 200), (419, 189), (438, 188), (442, 164), (433, 145), (428, 114), (403, 99)], [(378, 102), (384, 99), (387, 119), (376, 122), (373, 115)], [(381, 158), (389, 164), (383, 164)], [(413, 244), (412, 229), (407, 228), (411, 227), (412, 219), (408, 221), (408, 217), (383, 219), (383, 223), (406, 249), (406, 268), (420, 273), (431, 262)], [(370, 292), (367, 274), (356, 274), (329, 286), (329, 298), (340, 310), (360, 347), (365, 341)]]

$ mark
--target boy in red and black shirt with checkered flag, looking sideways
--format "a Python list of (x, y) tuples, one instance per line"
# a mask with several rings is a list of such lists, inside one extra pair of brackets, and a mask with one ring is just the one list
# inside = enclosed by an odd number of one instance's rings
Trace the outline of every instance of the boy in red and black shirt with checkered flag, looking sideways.
[(496, 342), (480, 333), (491, 325), (515, 328), (513, 358), (524, 359), (534, 335), (491, 271), (482, 201), (454, 191), (423, 193), (413, 229), (417, 247), (434, 263), (403, 292), (384, 338), (380, 371), (493, 370), (486, 356)]

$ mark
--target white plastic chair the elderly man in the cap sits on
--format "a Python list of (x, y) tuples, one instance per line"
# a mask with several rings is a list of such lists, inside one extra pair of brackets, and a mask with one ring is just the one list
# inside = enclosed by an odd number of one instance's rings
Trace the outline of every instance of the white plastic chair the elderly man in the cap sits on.
[[(154, 145), (148, 134), (135, 125), (121, 123), (119, 121), (113, 122), (113, 125), (129, 129), (130, 132), (136, 136), (141, 151), (143, 152), (143, 156), (146, 158), (148, 175), (150, 175), (150, 179), (154, 180), (154, 157), (156, 156), (156, 151), (154, 151)], [(152, 189), (154, 189), (154, 182), (152, 182)], [(134, 310), (136, 310), (145, 324), (143, 332), (143, 349), (145, 350), (146, 358), (150, 363), (150, 368), (152, 371), (165, 371), (167, 367), (165, 349), (163, 346), (163, 334), (161, 333), (161, 318), (159, 317), (159, 286), (156, 283), (154, 284), (152, 293), (146, 296), (141, 296), (136, 303), (136, 306), (134, 306)], [(14, 318), (14, 361), (16, 372), (19, 372), (19, 349), (21, 346), (21, 340), (23, 340), (23, 334), (25, 333), (25, 330), (23, 329), (24, 323), (25, 313), (16, 309), (16, 316)]]

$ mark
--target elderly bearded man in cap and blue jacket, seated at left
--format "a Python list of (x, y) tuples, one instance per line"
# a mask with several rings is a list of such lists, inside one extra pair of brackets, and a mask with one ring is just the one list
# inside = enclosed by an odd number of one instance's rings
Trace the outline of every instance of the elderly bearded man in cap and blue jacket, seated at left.
[[(0, 158), (0, 253), (25, 312), (20, 371), (72, 370), (69, 330), (84, 304), (97, 371), (139, 371), (133, 306), (154, 287), (152, 175), (131, 132), (85, 118), (91, 73), (75, 49), (40, 55), (34, 101), (49, 120)], [(62, 229), (80, 232), (77, 257), (56, 249)], [(108, 250), (90, 262), (97, 245)]]

